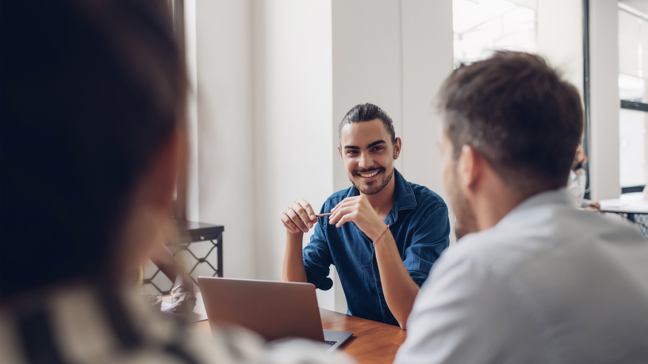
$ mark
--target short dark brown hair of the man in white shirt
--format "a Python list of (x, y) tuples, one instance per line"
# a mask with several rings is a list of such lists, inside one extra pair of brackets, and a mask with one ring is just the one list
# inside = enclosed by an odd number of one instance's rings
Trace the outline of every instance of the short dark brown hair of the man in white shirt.
[(496, 52), (461, 65), (439, 96), (455, 159), (469, 144), (509, 182), (566, 184), (583, 133), (583, 108), (576, 87), (542, 57)]

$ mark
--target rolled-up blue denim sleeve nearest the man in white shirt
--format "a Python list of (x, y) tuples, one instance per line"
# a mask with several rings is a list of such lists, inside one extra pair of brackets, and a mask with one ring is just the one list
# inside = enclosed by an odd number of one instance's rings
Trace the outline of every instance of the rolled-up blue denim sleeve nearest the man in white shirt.
[(449, 235), (448, 207), (439, 203), (426, 211), (410, 246), (403, 252), (403, 264), (419, 287), (428, 279), (432, 265), (450, 244)]

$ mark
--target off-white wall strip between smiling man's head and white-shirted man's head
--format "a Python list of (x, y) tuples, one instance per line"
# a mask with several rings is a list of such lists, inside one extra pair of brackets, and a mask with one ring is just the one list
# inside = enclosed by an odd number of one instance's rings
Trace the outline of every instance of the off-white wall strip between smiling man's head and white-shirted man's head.
[[(445, 199), (437, 148), (442, 120), (436, 97), (453, 67), (452, 0), (404, 0), (401, 17), (402, 173)], [(452, 211), (450, 226), (450, 244), (454, 244)]]

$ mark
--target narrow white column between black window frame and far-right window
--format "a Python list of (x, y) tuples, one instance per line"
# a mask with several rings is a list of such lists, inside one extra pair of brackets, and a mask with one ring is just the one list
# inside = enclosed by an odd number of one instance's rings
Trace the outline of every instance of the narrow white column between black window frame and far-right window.
[(616, 0), (590, 1), (590, 186), (592, 199), (618, 198), (619, 86)]

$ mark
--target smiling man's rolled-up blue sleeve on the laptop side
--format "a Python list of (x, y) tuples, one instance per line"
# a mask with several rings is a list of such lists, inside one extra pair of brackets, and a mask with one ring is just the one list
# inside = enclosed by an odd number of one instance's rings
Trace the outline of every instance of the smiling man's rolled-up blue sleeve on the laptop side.
[(304, 269), (308, 283), (312, 283), (316, 288), (327, 291), (333, 286), (333, 280), (328, 276), (329, 267), (333, 264), (333, 258), (330, 255), (329, 243), (324, 232), (328, 218), (319, 218), (319, 222), (314, 226), (314, 233), (310, 236), (310, 242), (303, 250)]

